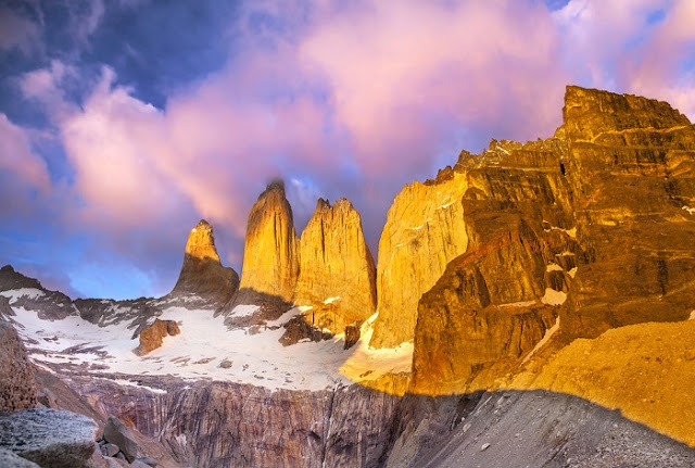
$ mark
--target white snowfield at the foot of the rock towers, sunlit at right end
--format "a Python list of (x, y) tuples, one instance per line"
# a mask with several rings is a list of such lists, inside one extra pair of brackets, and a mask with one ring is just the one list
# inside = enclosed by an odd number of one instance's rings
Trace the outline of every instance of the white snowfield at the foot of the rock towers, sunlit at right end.
[[(21, 290), (0, 292), (10, 299), (11, 306), (17, 298), (34, 294), (35, 291)], [(169, 375), (186, 380), (252, 383), (271, 390), (321, 390), (377, 379), (387, 372), (409, 371), (413, 357), (413, 343), (386, 350), (368, 346), (376, 314), (363, 325), (361, 341), (343, 350), (343, 334), (318, 343), (282, 346), (278, 342), (285, 332), (282, 325), (300, 314), (299, 308), (265, 326), (228, 330), (225, 317), (214, 317), (212, 309), (173, 306), (159, 318), (178, 322), (180, 334), (166, 337), (162, 347), (138, 356), (134, 350), (139, 341), (131, 339), (134, 328), (128, 328), (125, 320), (99, 327), (77, 316), (50, 321), (38, 318), (36, 311), (16, 306), (13, 309), (16, 316), (12, 318), (18, 324), (17, 331), (33, 361), (39, 365), (77, 364), (96, 376)], [(245, 316), (254, 311), (255, 306), (242, 305), (232, 315)], [(122, 377), (117, 383), (137, 385), (132, 379)]]

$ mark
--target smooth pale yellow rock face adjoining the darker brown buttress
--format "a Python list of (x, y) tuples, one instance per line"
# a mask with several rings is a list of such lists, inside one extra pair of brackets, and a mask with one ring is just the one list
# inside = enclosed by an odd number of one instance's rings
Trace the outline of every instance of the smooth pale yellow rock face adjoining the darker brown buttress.
[(438, 180), (406, 186), (389, 208), (379, 241), (379, 316), (372, 346), (391, 347), (413, 339), (420, 296), (434, 286), (446, 264), (466, 251), (460, 200), (467, 181), (462, 170), (456, 165)]

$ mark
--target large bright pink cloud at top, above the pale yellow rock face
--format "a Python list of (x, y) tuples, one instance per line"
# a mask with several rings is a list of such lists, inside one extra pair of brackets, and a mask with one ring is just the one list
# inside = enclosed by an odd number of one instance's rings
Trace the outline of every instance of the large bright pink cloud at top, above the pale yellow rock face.
[[(326, 75), (368, 172), (389, 170), (394, 153), (427, 167), (418, 161), (457, 126), (502, 123), (501, 137), (536, 137), (558, 123), (567, 78), (538, 2), (364, 1), (317, 24), (302, 58)], [(511, 123), (510, 112), (527, 118)]]

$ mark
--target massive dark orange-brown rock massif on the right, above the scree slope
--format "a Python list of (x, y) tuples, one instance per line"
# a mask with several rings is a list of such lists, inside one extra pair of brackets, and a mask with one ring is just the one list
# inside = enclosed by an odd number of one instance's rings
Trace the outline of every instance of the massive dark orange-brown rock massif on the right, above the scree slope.
[(564, 116), (553, 138), (493, 140), (465, 170), (468, 248), (419, 303), (414, 391), (490, 388), (558, 329), (688, 317), (694, 127), (666, 103), (576, 87)]

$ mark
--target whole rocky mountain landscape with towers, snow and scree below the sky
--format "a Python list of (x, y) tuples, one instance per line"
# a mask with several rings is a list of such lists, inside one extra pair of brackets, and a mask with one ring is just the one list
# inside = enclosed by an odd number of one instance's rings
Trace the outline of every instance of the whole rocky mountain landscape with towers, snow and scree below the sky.
[(205, 222), (161, 299), (2, 268), (0, 409), (93, 420), (83, 466), (695, 466), (695, 126), (577, 87), (563, 115), (406, 186), (376, 267), (349, 201), (298, 237), (276, 181), (240, 280)]

